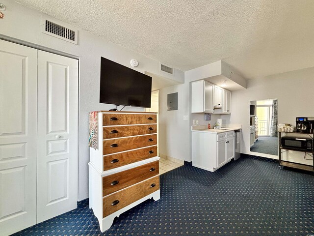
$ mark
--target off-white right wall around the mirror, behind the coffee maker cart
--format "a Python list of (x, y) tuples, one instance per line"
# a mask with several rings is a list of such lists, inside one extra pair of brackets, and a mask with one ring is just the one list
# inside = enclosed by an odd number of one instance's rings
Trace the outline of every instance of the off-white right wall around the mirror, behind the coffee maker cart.
[[(230, 123), (243, 124), (242, 153), (277, 158), (250, 151), (252, 100), (278, 99), (278, 123), (295, 126), (296, 117), (314, 117), (314, 67), (247, 81), (247, 89), (232, 91)], [(227, 118), (228, 122), (228, 118)]]

